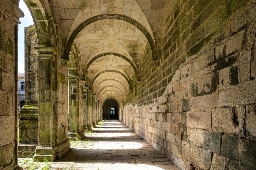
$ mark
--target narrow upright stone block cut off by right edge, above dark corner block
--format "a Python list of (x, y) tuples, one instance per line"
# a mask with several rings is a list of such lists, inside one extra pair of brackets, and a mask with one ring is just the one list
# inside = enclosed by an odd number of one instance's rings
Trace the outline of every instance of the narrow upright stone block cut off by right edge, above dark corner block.
[(256, 141), (256, 104), (246, 105), (246, 138)]

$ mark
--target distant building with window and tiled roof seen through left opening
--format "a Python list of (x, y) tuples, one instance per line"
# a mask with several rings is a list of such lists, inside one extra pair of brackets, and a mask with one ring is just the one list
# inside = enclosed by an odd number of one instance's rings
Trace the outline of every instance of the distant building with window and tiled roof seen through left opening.
[(25, 105), (25, 73), (18, 74), (18, 112)]

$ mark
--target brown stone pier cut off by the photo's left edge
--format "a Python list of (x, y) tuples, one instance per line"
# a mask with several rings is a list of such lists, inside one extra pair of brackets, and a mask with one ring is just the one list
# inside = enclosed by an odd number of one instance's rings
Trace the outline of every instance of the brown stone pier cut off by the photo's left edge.
[(18, 24), (16, 1), (0, 1), (0, 168), (18, 169)]

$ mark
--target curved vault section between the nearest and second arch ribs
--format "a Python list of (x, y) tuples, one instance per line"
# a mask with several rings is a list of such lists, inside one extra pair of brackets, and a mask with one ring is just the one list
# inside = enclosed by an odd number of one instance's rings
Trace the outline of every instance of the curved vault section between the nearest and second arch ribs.
[(145, 35), (122, 20), (100, 20), (85, 27), (77, 36), (83, 66), (97, 55), (114, 52), (139, 66)]

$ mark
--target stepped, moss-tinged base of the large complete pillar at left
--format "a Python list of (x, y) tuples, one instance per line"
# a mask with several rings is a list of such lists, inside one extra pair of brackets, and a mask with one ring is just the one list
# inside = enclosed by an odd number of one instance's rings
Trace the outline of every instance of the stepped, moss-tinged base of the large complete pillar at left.
[(44, 159), (48, 159), (49, 162), (53, 162), (56, 159), (60, 159), (70, 150), (69, 139), (61, 143), (60, 145), (55, 145), (53, 147), (43, 147), (37, 146), (35, 149), (35, 155), (33, 161), (43, 162)]

